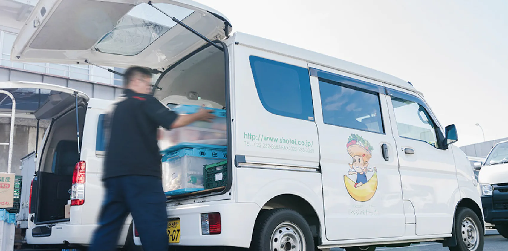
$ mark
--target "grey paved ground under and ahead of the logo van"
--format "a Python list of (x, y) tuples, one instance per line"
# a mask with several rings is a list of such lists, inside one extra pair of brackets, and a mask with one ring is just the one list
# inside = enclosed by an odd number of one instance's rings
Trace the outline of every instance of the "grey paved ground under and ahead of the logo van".
[[(332, 251), (343, 251), (342, 248), (333, 248)], [(449, 251), (448, 247), (443, 247), (441, 243), (427, 242), (406, 247), (378, 247), (376, 251)], [(484, 251), (505, 251), (508, 250), (508, 239), (498, 235), (495, 230), (487, 230), (485, 236)]]

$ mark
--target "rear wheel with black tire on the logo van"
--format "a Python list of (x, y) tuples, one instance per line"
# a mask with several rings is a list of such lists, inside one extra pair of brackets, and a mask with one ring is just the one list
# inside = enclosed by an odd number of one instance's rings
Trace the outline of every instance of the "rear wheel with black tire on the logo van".
[[(280, 229), (280, 231), (276, 231), (276, 229)], [(272, 235), (275, 235), (274, 239), (272, 239)], [(288, 240), (288, 238), (290, 239)], [(302, 243), (303, 240), (305, 244)], [(277, 248), (272, 249), (272, 245)], [(280, 248), (279, 245), (284, 245), (284, 247)], [(288, 245), (295, 246), (289, 248), (291, 251), (314, 250), (314, 238), (305, 218), (298, 212), (286, 208), (262, 212), (254, 226), (250, 250), (285, 251), (289, 247)]]

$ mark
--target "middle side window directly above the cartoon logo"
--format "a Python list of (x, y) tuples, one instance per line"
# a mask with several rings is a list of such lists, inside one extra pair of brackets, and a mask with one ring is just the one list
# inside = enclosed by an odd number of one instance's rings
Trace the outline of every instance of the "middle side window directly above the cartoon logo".
[(374, 133), (385, 133), (377, 93), (321, 80), (319, 88), (324, 123)]

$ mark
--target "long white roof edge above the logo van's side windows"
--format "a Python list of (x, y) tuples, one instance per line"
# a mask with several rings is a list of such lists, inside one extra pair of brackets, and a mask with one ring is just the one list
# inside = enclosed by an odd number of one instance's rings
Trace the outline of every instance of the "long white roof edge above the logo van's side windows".
[[(307, 62), (311, 62), (312, 64), (321, 65), (324, 67), (336, 69), (339, 71), (347, 72), (353, 75), (361, 76), (364, 78), (376, 80), (379, 82), (383, 82), (386, 84), (390, 84), (393, 86), (397, 86), (400, 88), (404, 88), (407, 90), (415, 91), (419, 93), (421, 96), (423, 94), (415, 89), (411, 84), (407, 81), (404, 81), (400, 78), (392, 76), (390, 74), (376, 71), (374, 69), (364, 67), (361, 65), (354, 64), (353, 62), (348, 62), (336, 57), (328, 56), (325, 54), (317, 53), (311, 50), (299, 48), (296, 46), (276, 42), (273, 40), (236, 32), (234, 35), (235, 42), (239, 42), (240, 44), (247, 45), (249, 47), (255, 47), (261, 50), (270, 51), (276, 54), (286, 55), (298, 59), (305, 60)], [(260, 47), (262, 45), (263, 47)]]

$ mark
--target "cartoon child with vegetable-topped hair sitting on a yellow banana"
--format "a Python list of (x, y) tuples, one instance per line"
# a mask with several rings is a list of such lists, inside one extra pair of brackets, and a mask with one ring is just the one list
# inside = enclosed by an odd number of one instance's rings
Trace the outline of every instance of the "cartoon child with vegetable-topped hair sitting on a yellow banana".
[[(372, 158), (374, 149), (370, 143), (359, 135), (352, 134), (346, 144), (347, 153), (352, 158), (349, 164), (351, 170), (348, 175), (356, 174), (356, 182), (344, 175), (344, 184), (347, 193), (356, 201), (365, 202), (370, 200), (377, 190), (377, 169), (369, 168), (369, 161)], [(370, 179), (367, 179), (367, 173), (372, 172)]]

